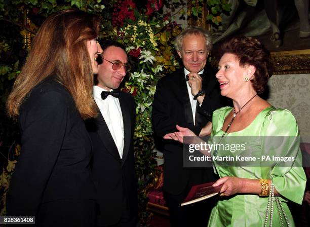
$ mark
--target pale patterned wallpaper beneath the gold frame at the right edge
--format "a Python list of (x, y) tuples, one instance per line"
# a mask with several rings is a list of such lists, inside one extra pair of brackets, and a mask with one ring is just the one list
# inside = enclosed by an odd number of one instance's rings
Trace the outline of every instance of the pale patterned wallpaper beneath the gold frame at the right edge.
[(291, 110), (301, 138), (310, 142), (310, 74), (273, 75), (268, 86), (267, 101), (276, 108)]

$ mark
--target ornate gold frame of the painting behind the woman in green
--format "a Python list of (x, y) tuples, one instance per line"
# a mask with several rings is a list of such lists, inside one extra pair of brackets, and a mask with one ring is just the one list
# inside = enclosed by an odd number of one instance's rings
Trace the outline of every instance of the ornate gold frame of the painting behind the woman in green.
[[(198, 5), (196, 0), (196, 5)], [(193, 6), (191, 0), (187, 0), (187, 12), (191, 11)], [(206, 21), (208, 15), (207, 5), (204, 4), (202, 18), (198, 20), (188, 19), (188, 26), (198, 26), (210, 30), (210, 25)], [(274, 60), (274, 74), (301, 74), (310, 73), (310, 49), (290, 50), (271, 52)]]

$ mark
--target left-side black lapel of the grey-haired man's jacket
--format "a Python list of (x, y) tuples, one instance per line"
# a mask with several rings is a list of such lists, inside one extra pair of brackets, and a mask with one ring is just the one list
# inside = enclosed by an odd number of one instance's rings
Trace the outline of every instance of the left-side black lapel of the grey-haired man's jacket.
[(184, 105), (184, 116), (185, 116), (185, 121), (188, 125), (193, 125), (193, 118), (192, 118), (192, 111), (191, 111), (191, 105), (190, 105), (190, 100), (188, 96), (188, 90), (187, 90), (187, 85), (186, 85), (186, 79), (185, 79), (185, 74), (184, 74), (184, 69), (181, 69), (180, 71), (180, 90), (181, 95), (182, 95), (182, 101)]

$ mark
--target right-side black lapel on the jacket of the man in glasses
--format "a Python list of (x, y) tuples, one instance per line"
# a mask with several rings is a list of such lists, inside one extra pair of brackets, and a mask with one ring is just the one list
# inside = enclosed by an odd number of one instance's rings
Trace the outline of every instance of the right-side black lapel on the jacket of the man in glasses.
[(123, 92), (120, 93), (120, 106), (122, 109), (122, 116), (123, 116), (123, 124), (124, 124), (124, 149), (123, 149), (123, 158), (122, 158), (122, 166), (124, 165), (126, 161), (126, 157), (129, 152), (129, 146), (130, 146), (130, 139), (131, 139), (131, 122), (130, 122), (130, 112), (129, 108), (126, 102), (126, 98), (123, 94)]

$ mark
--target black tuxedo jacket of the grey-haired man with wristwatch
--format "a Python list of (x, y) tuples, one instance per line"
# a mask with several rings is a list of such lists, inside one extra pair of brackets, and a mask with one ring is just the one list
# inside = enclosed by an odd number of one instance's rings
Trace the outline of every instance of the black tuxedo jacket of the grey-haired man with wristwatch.
[[(201, 107), (197, 102), (195, 125), (189, 101), (184, 68), (159, 80), (152, 105), (154, 133), (163, 138), (167, 133), (177, 131), (176, 125), (186, 127), (199, 135), (202, 127), (212, 121), (212, 113), (219, 108), (219, 84), (214, 71), (206, 66), (202, 89), (206, 95)], [(182, 145), (174, 140), (164, 139), (164, 191), (179, 195), (195, 184), (215, 180), (212, 168), (182, 167)], [(187, 189), (186, 189), (187, 188)]]

